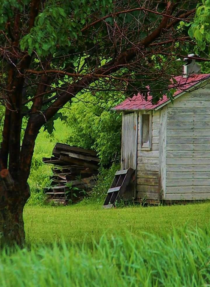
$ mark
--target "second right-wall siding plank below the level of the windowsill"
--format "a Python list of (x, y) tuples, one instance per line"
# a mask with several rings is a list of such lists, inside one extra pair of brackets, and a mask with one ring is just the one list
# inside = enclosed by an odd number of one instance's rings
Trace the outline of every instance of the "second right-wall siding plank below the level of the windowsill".
[[(210, 154), (209, 154), (210, 155)], [(210, 164), (210, 157), (167, 157), (166, 164), (168, 165), (199, 165), (199, 164)]]

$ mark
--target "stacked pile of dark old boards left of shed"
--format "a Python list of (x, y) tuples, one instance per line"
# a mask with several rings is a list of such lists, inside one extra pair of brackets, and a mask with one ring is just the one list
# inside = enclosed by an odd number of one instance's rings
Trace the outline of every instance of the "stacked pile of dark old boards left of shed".
[(99, 159), (95, 151), (57, 143), (45, 164), (53, 164), (53, 176), (44, 189), (49, 201), (76, 203), (87, 196), (96, 184)]

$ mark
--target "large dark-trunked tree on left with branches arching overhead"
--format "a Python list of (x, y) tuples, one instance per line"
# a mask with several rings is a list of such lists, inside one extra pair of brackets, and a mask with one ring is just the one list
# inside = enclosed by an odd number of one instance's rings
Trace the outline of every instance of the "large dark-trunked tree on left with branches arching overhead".
[[(1, 244), (24, 244), (22, 211), (34, 144), (44, 125), (83, 91), (167, 90), (175, 55), (191, 45), (197, 1), (2, 0), (0, 154)], [(184, 44), (184, 45), (183, 45)], [(162, 61), (162, 55), (169, 56)], [(27, 121), (21, 141), (22, 122)]]

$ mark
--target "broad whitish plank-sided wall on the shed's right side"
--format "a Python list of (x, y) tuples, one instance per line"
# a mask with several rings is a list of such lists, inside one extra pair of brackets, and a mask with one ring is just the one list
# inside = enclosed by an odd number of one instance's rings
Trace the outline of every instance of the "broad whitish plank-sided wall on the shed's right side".
[(210, 199), (209, 85), (168, 104), (165, 200)]

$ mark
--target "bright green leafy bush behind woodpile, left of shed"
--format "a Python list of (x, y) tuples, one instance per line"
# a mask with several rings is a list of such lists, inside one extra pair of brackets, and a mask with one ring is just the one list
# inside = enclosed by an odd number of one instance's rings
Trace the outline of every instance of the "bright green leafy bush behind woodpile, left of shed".
[(71, 129), (68, 143), (97, 151), (101, 164), (120, 154), (121, 114), (111, 109), (124, 99), (116, 93), (85, 93), (64, 114)]

